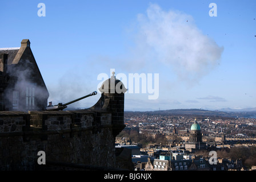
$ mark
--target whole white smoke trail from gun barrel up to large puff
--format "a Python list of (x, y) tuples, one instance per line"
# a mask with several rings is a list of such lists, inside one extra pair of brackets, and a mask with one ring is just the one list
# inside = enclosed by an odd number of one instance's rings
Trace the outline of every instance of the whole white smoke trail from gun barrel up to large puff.
[[(98, 85), (98, 74), (109, 75), (112, 68), (117, 74), (124, 73), (127, 76), (129, 73), (159, 73), (160, 92), (163, 92), (162, 84), (170, 92), (178, 82), (163, 81), (164, 78), (175, 74), (189, 84), (198, 81), (218, 65), (223, 52), (222, 47), (199, 30), (191, 15), (173, 10), (164, 11), (155, 4), (150, 4), (146, 14), (138, 14), (137, 21), (127, 27), (126, 31), (126, 40), (131, 42), (127, 42), (129, 46), (124, 52), (113, 50), (115, 56), (101, 53), (92, 56), (90, 61), (86, 61), (90, 63), (89, 68), (94, 70), (95, 75), (90, 79), (84, 75), (86, 72), (77, 76), (77, 69), (74, 75), (65, 74), (55, 85), (48, 86), (49, 101), (64, 103), (94, 91), (97, 88), (91, 86)], [(85, 106), (94, 98), (87, 98), (74, 105)]]

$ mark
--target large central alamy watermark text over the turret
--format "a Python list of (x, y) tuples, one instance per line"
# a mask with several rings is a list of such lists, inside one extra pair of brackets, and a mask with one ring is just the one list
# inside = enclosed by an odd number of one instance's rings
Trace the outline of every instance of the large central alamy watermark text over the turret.
[[(110, 69), (110, 75), (113, 77), (115, 74), (115, 69)], [(97, 77), (97, 80), (102, 80), (98, 84), (98, 88), (104, 84), (105, 88), (105, 93), (109, 92), (109, 82), (105, 82), (109, 78), (109, 75), (106, 73), (100, 73)], [(110, 81), (110, 93), (127, 93), (132, 94), (132, 93), (143, 93), (146, 94), (148, 93), (148, 99), (149, 100), (157, 100), (159, 97), (159, 73), (154, 73), (154, 80), (153, 80), (153, 73), (128, 73), (128, 76), (125, 73), (118, 73), (115, 75), (115, 78), (118, 80), (121, 80), (123, 85), (125, 85), (124, 88), (120, 84), (115, 85), (115, 82)]]

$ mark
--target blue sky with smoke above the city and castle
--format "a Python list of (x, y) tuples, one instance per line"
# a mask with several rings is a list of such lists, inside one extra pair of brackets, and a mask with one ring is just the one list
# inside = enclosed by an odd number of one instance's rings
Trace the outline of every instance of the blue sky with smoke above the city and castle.
[[(209, 16), (210, 3), (217, 16)], [(0, 47), (30, 39), (54, 104), (97, 90), (98, 75), (115, 69), (159, 74), (157, 100), (126, 93), (125, 110), (256, 107), (255, 7), (253, 0), (3, 1)]]

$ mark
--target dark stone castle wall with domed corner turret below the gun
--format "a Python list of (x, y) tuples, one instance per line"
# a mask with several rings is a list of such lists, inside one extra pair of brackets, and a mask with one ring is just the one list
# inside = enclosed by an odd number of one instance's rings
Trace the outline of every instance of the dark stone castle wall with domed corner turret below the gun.
[[(0, 170), (117, 167), (115, 137), (125, 127), (124, 93), (106, 93), (103, 85), (101, 98), (89, 109), (0, 111)], [(46, 164), (38, 164), (39, 151)]]

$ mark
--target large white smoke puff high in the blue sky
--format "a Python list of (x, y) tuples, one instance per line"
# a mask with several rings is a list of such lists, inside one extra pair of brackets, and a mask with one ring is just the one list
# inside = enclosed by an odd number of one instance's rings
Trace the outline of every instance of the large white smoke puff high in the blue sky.
[(134, 47), (133, 60), (138, 67), (156, 68), (161, 64), (187, 81), (206, 75), (223, 52), (223, 47), (203, 35), (192, 16), (163, 11), (155, 4), (148, 7), (146, 14), (137, 16)]

